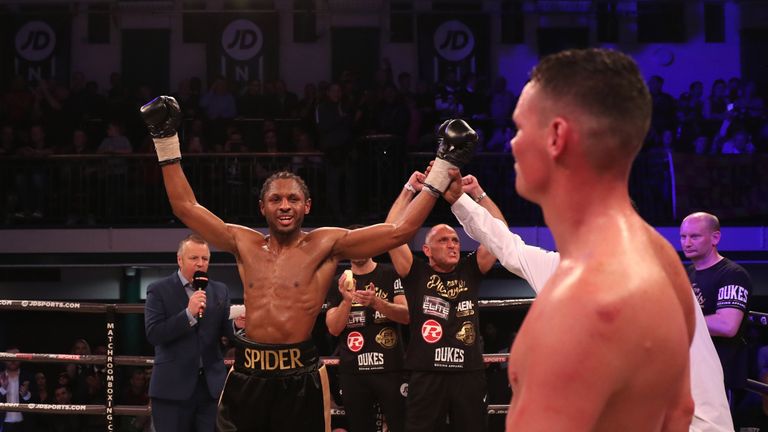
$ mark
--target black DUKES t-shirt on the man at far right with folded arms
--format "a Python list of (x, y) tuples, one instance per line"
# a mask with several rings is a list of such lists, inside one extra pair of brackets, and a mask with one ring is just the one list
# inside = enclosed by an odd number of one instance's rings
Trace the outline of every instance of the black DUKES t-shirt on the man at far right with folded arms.
[(748, 352), (744, 338), (748, 320), (752, 281), (744, 268), (728, 258), (704, 270), (688, 267), (688, 279), (704, 315), (718, 309), (735, 308), (744, 312), (739, 330), (731, 338), (714, 336), (712, 341), (723, 365), (726, 386), (742, 387), (747, 379)]

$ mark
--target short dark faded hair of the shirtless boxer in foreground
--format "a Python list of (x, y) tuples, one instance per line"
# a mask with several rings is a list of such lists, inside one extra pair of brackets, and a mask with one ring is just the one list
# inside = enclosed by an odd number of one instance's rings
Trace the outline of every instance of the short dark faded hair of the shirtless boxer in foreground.
[(601, 48), (561, 51), (544, 57), (531, 71), (531, 81), (548, 100), (562, 101), (598, 122), (585, 129), (584, 138), (587, 146), (598, 146), (587, 149), (596, 169), (609, 168), (617, 157), (631, 160), (640, 151), (651, 123), (651, 94), (628, 55)]

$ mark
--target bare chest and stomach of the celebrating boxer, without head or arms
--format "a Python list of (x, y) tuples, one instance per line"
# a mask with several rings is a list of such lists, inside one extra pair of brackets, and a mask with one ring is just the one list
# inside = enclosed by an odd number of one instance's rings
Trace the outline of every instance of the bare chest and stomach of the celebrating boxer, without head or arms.
[(304, 233), (295, 246), (279, 248), (255, 231), (240, 228), (235, 235), (246, 337), (281, 344), (309, 339), (336, 271), (327, 236)]

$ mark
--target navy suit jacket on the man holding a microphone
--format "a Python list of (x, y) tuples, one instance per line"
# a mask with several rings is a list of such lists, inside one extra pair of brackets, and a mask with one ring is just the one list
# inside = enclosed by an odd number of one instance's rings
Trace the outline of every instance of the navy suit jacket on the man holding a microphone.
[(211, 280), (205, 290), (206, 307), (202, 319), (190, 327), (189, 304), (178, 273), (147, 287), (144, 329), (155, 347), (155, 363), (149, 381), (149, 396), (186, 400), (197, 385), (200, 359), (208, 390), (218, 399), (224, 388), (227, 369), (219, 348), (221, 336), (233, 337), (229, 320), (229, 289)]

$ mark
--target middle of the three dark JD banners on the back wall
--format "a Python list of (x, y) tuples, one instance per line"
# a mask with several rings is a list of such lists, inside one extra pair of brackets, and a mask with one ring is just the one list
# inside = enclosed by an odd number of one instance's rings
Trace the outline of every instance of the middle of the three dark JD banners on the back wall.
[(278, 17), (273, 12), (210, 14), (208, 79), (248, 81), (278, 78)]

